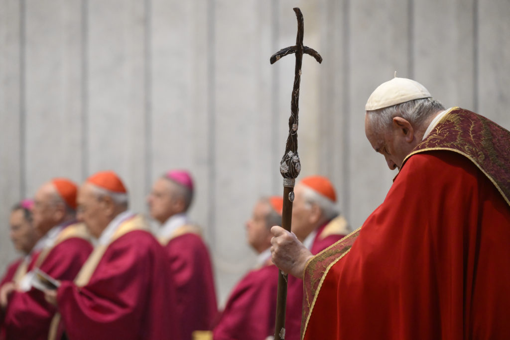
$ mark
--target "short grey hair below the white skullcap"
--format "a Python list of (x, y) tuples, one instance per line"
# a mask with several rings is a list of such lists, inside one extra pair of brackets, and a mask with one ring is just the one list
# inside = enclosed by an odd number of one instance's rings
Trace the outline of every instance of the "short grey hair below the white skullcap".
[(370, 124), (377, 131), (388, 129), (395, 117), (402, 117), (413, 126), (421, 126), (430, 115), (445, 110), (443, 104), (432, 97), (396, 104), (379, 110), (367, 111)]

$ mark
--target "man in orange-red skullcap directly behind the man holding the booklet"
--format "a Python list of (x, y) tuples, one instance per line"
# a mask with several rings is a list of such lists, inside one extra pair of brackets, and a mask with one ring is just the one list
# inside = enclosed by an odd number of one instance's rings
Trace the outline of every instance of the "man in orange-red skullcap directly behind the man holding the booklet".
[(72, 280), (92, 251), (90, 235), (75, 220), (77, 186), (66, 178), (54, 178), (36, 192), (32, 208), (34, 227), (42, 235), (36, 252), (5, 309), (7, 339), (47, 339), (56, 308), (32, 286), (35, 268), (59, 280)]

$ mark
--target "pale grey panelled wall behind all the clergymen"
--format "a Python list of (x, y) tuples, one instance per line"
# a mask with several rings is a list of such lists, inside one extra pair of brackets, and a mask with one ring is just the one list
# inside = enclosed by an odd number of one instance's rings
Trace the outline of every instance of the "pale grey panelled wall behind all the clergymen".
[[(365, 139), (364, 104), (398, 76), (510, 128), (508, 0), (0, 0), (0, 269), (11, 205), (55, 176), (117, 171), (134, 211), (188, 168), (220, 301), (253, 263), (244, 223), (281, 194), (294, 57), (302, 66), (300, 177), (327, 175), (355, 227), (395, 175)], [(299, 179), (299, 177), (298, 177)]]

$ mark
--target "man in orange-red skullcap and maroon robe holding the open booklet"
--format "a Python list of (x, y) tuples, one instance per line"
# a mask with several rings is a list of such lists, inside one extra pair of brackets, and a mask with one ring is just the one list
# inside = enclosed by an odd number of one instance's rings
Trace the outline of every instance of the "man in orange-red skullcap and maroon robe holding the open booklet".
[(78, 219), (97, 244), (74, 281), (46, 299), (57, 305), (49, 339), (181, 339), (175, 291), (163, 248), (112, 171), (90, 176), (78, 194)]

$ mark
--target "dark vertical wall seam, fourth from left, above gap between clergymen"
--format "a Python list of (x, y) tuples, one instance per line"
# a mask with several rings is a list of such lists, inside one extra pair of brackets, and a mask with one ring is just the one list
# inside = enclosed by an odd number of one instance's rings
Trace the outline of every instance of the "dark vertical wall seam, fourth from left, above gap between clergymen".
[(216, 247), (216, 91), (215, 91), (215, 0), (207, 3), (207, 95), (208, 95), (208, 170), (209, 170), (209, 195), (208, 195), (208, 233), (211, 247)]

